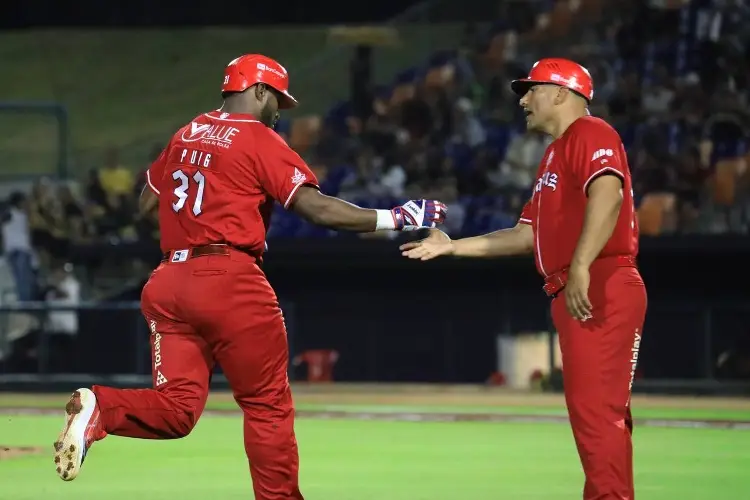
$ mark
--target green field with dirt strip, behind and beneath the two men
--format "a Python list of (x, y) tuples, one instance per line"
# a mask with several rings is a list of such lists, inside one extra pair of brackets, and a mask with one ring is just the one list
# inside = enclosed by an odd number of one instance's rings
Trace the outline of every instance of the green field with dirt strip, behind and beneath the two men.
[[(310, 500), (565, 500), (583, 475), (558, 395), (297, 391), (300, 481)], [(240, 414), (228, 395), (183, 440), (108, 437), (58, 479), (65, 395), (2, 395), (0, 499), (252, 498)], [(750, 498), (750, 402), (636, 397), (639, 500)]]

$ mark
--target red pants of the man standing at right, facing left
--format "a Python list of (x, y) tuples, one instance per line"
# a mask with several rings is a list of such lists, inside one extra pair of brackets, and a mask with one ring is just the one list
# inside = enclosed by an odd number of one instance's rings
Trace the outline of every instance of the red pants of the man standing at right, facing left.
[(592, 266), (592, 319), (552, 301), (568, 415), (586, 482), (584, 500), (633, 500), (630, 392), (646, 317), (646, 288), (634, 267)]

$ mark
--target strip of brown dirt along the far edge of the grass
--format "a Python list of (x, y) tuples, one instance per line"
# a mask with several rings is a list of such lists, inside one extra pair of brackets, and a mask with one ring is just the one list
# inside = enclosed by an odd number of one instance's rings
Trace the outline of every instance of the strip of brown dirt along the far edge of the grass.
[[(24, 401), (23, 408), (3, 405), (6, 401)], [(294, 385), (294, 398), (301, 408), (300, 418), (306, 419), (355, 419), (405, 422), (523, 422), (567, 424), (564, 415), (526, 415), (530, 408), (563, 410), (565, 401), (561, 394), (512, 391), (483, 386), (437, 386), (407, 384), (330, 384)], [(42, 401), (59, 402), (59, 394), (47, 395), (3, 395), (0, 394), (0, 413), (11, 415), (57, 415), (58, 409), (43, 405)], [(229, 403), (234, 399), (227, 392), (213, 392), (209, 407), (213, 404)], [(16, 403), (18, 404), (18, 403)], [(36, 405), (39, 405), (38, 407)], [(305, 405), (317, 405), (319, 409), (306, 409)], [(337, 408), (333, 408), (336, 406)], [(347, 410), (340, 406), (351, 405)], [(360, 405), (360, 408), (356, 408)], [(677, 397), (636, 395), (633, 405), (639, 408), (717, 409), (747, 411), (747, 419), (739, 420), (685, 420), (685, 419), (637, 419), (638, 425), (654, 427), (689, 427), (750, 430), (750, 399), (719, 397)], [(4, 407), (3, 407), (4, 406)], [(43, 408), (43, 406), (46, 406)], [(328, 406), (329, 408), (325, 408)], [(361, 406), (382, 406), (385, 411), (361, 411)], [(389, 408), (390, 407), (390, 408)], [(399, 408), (401, 407), (401, 408)], [(406, 408), (423, 407), (424, 411), (408, 411)], [(433, 410), (427, 411), (427, 408)], [(464, 407), (464, 411), (451, 411)], [(503, 412), (480, 411), (485, 408), (503, 408)], [(513, 408), (518, 408), (517, 412)], [(469, 412), (466, 409), (474, 408)], [(524, 410), (524, 408), (526, 410)], [(239, 410), (208, 410), (207, 416), (237, 415)]]

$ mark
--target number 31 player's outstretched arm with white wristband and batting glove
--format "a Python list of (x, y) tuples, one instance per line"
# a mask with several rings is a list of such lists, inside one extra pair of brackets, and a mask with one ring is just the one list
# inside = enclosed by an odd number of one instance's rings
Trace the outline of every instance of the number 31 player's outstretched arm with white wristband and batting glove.
[(369, 233), (378, 230), (408, 231), (435, 227), (445, 220), (445, 205), (435, 200), (411, 200), (391, 210), (360, 208), (316, 188), (302, 186), (291, 209), (319, 226), (341, 231)]

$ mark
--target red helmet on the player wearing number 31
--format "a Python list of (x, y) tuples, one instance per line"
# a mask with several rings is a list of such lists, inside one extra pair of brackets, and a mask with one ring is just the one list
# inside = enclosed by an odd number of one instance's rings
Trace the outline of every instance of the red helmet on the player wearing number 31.
[(289, 93), (289, 75), (284, 66), (261, 54), (245, 54), (224, 70), (222, 92), (242, 92), (256, 83), (265, 83), (279, 92), (279, 109), (293, 108), (297, 99)]

